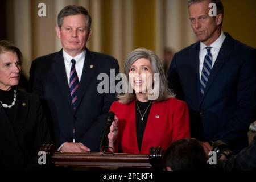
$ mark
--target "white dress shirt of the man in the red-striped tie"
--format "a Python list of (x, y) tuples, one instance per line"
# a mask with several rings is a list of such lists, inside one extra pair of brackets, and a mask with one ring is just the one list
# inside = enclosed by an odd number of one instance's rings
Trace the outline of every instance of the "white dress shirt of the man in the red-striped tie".
[(71, 60), (72, 59), (74, 59), (76, 61), (75, 68), (76, 68), (77, 77), (79, 77), (79, 81), (81, 80), (82, 68), (84, 68), (85, 54), (86, 54), (86, 51), (84, 50), (79, 55), (72, 57), (67, 52), (65, 52), (63, 49), (63, 57), (64, 57), (67, 78), (68, 78), (68, 84), (69, 84), (69, 78), (70, 78), (70, 70), (71, 70), (71, 65), (72, 65)]

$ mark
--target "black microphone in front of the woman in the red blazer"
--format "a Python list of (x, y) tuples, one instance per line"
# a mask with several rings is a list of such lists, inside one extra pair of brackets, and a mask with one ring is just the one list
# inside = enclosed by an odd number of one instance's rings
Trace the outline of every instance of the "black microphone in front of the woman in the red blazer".
[(103, 147), (103, 152), (106, 152), (106, 149), (107, 149), (106, 146), (108, 146), (108, 142), (109, 142), (108, 134), (110, 131), (109, 129), (110, 129), (110, 126), (112, 125), (112, 122), (114, 121), (114, 118), (115, 118), (115, 114), (113, 112), (109, 112), (108, 115), (106, 116), (106, 124), (101, 134), (101, 143), (100, 143), (100, 150)]

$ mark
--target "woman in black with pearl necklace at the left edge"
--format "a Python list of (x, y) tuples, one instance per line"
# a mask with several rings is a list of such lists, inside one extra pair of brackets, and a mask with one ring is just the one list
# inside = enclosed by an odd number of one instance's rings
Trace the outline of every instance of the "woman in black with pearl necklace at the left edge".
[(22, 53), (0, 41), (0, 166), (36, 169), (39, 147), (49, 143), (49, 132), (39, 97), (19, 91)]

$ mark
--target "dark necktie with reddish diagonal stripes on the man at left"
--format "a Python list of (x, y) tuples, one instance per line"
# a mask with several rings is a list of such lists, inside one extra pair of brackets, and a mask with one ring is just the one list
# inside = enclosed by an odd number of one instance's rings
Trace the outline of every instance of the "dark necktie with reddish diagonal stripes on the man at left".
[(77, 77), (75, 64), (76, 61), (74, 59), (71, 60), (71, 70), (70, 70), (70, 78), (69, 78), (69, 90), (72, 98), (73, 109), (76, 109), (76, 100), (77, 100), (77, 90), (79, 88), (79, 78)]

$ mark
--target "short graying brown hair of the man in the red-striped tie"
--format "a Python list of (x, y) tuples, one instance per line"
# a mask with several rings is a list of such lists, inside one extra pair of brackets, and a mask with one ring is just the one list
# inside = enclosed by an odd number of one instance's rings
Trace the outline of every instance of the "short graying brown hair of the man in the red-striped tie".
[(69, 5), (64, 7), (58, 14), (58, 26), (61, 28), (63, 24), (63, 18), (65, 16), (82, 14), (86, 18), (86, 29), (90, 30), (90, 25), (92, 24), (92, 18), (90, 17), (88, 11), (82, 6)]

